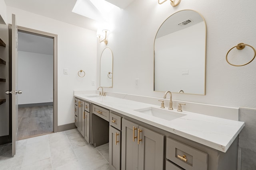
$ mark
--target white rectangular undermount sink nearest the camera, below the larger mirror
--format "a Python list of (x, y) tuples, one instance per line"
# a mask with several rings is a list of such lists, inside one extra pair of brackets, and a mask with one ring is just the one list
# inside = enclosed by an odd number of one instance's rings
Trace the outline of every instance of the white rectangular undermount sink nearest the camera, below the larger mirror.
[(161, 119), (166, 119), (166, 120), (169, 120), (169, 121), (186, 115), (186, 114), (183, 114), (183, 113), (177, 113), (177, 112), (172, 111), (172, 110), (160, 109), (160, 108), (155, 108), (155, 107), (147, 107), (147, 108), (143, 108), (143, 109), (136, 109), (135, 111), (139, 111), (140, 113), (144, 113), (146, 115), (152, 115), (154, 117), (158, 117), (158, 118), (161, 118)]

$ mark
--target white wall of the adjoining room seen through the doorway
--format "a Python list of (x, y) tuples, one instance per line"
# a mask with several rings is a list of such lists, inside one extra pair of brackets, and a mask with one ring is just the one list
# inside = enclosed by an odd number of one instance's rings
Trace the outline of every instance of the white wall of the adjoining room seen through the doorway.
[(18, 104), (53, 102), (53, 55), (18, 51)]

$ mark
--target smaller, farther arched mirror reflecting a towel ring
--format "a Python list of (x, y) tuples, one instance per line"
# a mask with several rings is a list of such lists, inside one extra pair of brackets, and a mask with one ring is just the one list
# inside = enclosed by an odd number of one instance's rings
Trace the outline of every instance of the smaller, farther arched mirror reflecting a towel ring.
[(100, 57), (100, 86), (113, 87), (113, 53), (106, 47)]

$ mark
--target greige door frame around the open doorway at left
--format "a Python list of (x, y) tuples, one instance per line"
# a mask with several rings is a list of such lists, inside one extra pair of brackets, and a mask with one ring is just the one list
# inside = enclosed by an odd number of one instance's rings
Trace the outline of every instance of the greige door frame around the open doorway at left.
[[(12, 28), (12, 24), (9, 24), (9, 30)], [(52, 34), (52, 33), (48, 33), (48, 32), (44, 32), (44, 31), (39, 31), (36, 29), (30, 29), (30, 28), (26, 28), (26, 27), (21, 27), (18, 26), (18, 31), (20, 32), (24, 32), (24, 33), (30, 33), (30, 34), (34, 34), (34, 35), (40, 35), (40, 36), (44, 36), (44, 37), (48, 37), (48, 38), (52, 38), (53, 39), (53, 133), (58, 132), (58, 35), (56, 34)], [(9, 44), (10, 42), (10, 33), (9, 33)], [(12, 52), (11, 52), (11, 46), (9, 46), (9, 63), (12, 63), (11, 61), (11, 56), (12, 56)], [(9, 80), (10, 76), (11, 76), (11, 67), (9, 64)], [(9, 88), (11, 86), (12, 82), (9, 82)], [(12, 99), (11, 97), (9, 97), (9, 104), (12, 103)], [(12, 109), (9, 106), (9, 139), (11, 141), (11, 137), (12, 135), (10, 134), (10, 132), (12, 131), (11, 129), (11, 114), (12, 113)]]

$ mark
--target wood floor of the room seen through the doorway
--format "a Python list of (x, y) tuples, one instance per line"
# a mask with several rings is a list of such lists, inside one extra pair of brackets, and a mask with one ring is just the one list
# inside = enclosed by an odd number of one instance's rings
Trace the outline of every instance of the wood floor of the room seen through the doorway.
[(18, 109), (18, 140), (53, 132), (53, 106)]

